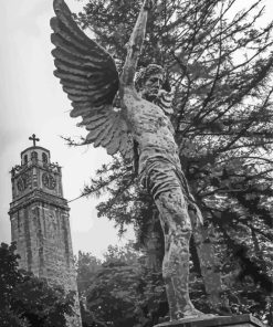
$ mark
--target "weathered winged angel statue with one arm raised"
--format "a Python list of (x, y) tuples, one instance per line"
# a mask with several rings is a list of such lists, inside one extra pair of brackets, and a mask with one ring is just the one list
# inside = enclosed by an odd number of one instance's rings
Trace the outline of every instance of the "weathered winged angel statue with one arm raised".
[[(139, 180), (153, 194), (165, 235), (162, 275), (170, 320), (199, 317), (189, 297), (191, 213), (201, 213), (183, 178), (169, 120), (170, 95), (162, 89), (165, 71), (150, 64), (135, 78), (153, 0), (145, 0), (128, 42), (120, 76), (113, 57), (77, 27), (64, 0), (54, 0), (52, 51), (54, 75), (72, 101), (72, 117), (88, 130), (86, 144), (138, 160)], [(118, 94), (120, 108), (113, 102)], [(134, 150), (135, 149), (135, 150)]]

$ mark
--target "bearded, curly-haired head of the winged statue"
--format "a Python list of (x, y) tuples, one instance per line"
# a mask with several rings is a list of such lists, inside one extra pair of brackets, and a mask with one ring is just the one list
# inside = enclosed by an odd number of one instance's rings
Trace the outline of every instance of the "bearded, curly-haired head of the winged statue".
[(150, 64), (141, 68), (135, 81), (136, 89), (147, 101), (155, 101), (165, 83), (165, 71), (161, 66)]

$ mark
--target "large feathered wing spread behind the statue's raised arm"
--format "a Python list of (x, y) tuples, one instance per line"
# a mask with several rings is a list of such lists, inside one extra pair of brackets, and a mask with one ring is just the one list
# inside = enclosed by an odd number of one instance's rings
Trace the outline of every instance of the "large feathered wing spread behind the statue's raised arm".
[(113, 57), (84, 34), (63, 0), (54, 0), (53, 7), (56, 14), (51, 19), (54, 75), (72, 101), (71, 116), (82, 116), (80, 125), (90, 131), (86, 144), (103, 146), (109, 155), (120, 151), (125, 158), (132, 157), (132, 137), (123, 112), (113, 108), (118, 91)]

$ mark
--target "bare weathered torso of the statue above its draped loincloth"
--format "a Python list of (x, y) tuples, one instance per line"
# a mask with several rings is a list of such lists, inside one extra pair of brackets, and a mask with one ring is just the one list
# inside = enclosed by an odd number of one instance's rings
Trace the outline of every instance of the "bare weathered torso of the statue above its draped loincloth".
[(124, 94), (124, 106), (133, 137), (138, 143), (140, 171), (147, 159), (156, 157), (180, 167), (174, 128), (164, 110), (130, 89)]

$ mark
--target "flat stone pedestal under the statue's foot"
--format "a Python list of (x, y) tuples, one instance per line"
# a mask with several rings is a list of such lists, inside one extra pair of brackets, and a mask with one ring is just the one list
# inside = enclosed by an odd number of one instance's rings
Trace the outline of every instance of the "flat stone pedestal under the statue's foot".
[(265, 327), (251, 315), (241, 316), (208, 316), (202, 318), (186, 318), (179, 321), (161, 323), (155, 327)]

